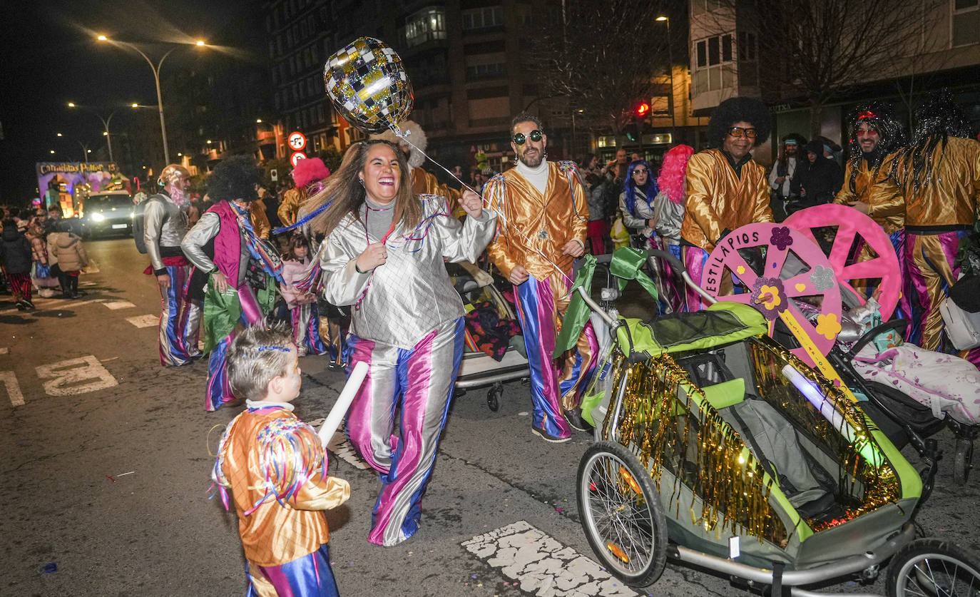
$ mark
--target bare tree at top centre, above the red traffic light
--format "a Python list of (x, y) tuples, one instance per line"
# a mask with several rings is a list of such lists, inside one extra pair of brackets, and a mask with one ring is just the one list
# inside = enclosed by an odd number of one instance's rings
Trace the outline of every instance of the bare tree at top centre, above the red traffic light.
[(532, 42), (527, 68), (538, 77), (540, 96), (565, 98), (583, 128), (622, 130), (659, 88), (655, 77), (667, 72), (667, 27), (657, 18), (682, 14), (684, 4), (563, 0)]

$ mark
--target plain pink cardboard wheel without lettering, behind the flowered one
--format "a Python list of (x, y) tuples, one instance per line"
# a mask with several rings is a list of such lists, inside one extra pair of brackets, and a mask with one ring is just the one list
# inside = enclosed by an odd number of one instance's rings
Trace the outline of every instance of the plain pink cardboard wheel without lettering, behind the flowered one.
[[(837, 233), (827, 260), (834, 269), (837, 281), (842, 285), (847, 284), (863, 305), (866, 302), (864, 293), (852, 285), (852, 280), (880, 278), (878, 288), (881, 289), (881, 298), (878, 303), (881, 304), (881, 319), (887, 322), (892, 317), (902, 292), (902, 274), (895, 247), (880, 225), (853, 207), (834, 203), (800, 210), (783, 224), (800, 230), (812, 242), (816, 242), (813, 236), (815, 228), (836, 227)], [(850, 263), (851, 249), (856, 239), (870, 246), (876, 257)]]

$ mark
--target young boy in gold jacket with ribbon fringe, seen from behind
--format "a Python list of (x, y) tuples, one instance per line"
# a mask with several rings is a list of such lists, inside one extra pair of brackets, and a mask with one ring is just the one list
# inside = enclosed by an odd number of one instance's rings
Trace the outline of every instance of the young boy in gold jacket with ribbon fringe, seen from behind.
[(232, 421), (212, 473), (225, 508), (231, 489), (249, 595), (336, 596), (321, 512), (347, 501), (326, 474), (319, 435), (293, 415), (300, 393), (296, 345), (282, 327), (243, 330), (227, 353), (228, 380), (247, 409)]

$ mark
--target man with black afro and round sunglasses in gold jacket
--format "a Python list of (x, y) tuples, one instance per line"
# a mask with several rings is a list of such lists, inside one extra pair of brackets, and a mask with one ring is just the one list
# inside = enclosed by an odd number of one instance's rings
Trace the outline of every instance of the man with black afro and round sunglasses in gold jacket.
[[(709, 140), (715, 146), (688, 162), (681, 255), (695, 280), (702, 279), (709, 253), (725, 234), (745, 224), (773, 221), (765, 169), (750, 153), (769, 136), (771, 123), (768, 108), (758, 99), (727, 99), (718, 104), (708, 124)], [(731, 291), (732, 280), (727, 277), (721, 292)], [(701, 297), (690, 289), (685, 308), (701, 309)]]

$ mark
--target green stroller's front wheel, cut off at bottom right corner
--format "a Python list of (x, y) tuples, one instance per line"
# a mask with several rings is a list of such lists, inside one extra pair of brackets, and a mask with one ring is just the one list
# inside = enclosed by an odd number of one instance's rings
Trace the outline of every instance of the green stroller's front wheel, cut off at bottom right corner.
[(889, 597), (980, 595), (980, 565), (972, 554), (941, 539), (916, 539), (892, 558)]

